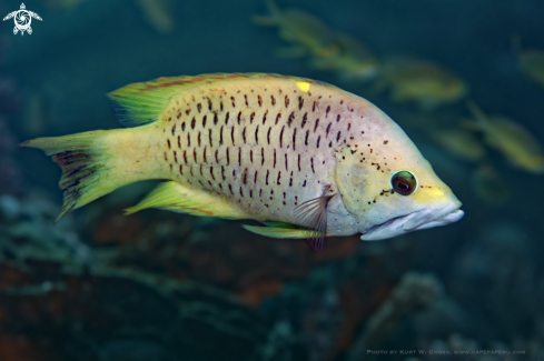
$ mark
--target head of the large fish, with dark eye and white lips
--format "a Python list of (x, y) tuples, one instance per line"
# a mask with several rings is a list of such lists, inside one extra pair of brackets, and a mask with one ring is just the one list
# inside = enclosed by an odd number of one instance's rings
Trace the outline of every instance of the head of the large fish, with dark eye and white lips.
[(357, 126), (360, 137), (335, 153), (336, 184), (360, 239), (384, 240), (458, 221), (464, 215), (459, 200), (406, 133), (375, 109)]

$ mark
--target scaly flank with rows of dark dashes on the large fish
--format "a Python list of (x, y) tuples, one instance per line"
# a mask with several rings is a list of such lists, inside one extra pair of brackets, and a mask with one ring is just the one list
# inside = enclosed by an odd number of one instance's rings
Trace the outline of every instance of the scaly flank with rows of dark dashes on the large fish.
[(289, 79), (214, 87), (174, 97), (164, 112), (165, 178), (225, 197), (256, 219), (291, 220), (305, 188), (315, 195), (334, 183), (334, 150), (353, 121), (344, 99), (353, 96), (333, 98), (324, 86), (305, 92)]

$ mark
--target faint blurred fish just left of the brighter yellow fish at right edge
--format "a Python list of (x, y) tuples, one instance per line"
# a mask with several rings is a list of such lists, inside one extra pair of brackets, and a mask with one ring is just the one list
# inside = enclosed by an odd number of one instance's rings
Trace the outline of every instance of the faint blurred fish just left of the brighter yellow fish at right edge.
[(484, 146), (466, 130), (442, 129), (433, 131), (431, 138), (449, 154), (467, 161), (475, 162), (485, 156)]

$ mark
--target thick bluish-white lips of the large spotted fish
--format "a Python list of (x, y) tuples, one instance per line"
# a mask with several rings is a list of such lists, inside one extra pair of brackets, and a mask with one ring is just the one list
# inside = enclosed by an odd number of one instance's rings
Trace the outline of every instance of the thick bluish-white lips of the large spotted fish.
[(423, 209), (416, 212), (395, 217), (384, 223), (370, 227), (360, 237), (364, 241), (379, 241), (413, 231), (442, 227), (457, 222), (465, 214), (459, 201), (441, 209)]

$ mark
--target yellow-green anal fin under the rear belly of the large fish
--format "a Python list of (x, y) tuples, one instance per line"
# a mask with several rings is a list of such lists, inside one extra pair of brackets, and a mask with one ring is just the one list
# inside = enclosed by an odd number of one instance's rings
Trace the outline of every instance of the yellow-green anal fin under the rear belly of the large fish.
[(159, 208), (178, 213), (226, 219), (251, 218), (228, 200), (204, 190), (192, 190), (177, 182), (164, 182), (137, 205), (125, 210), (132, 214), (146, 208)]

